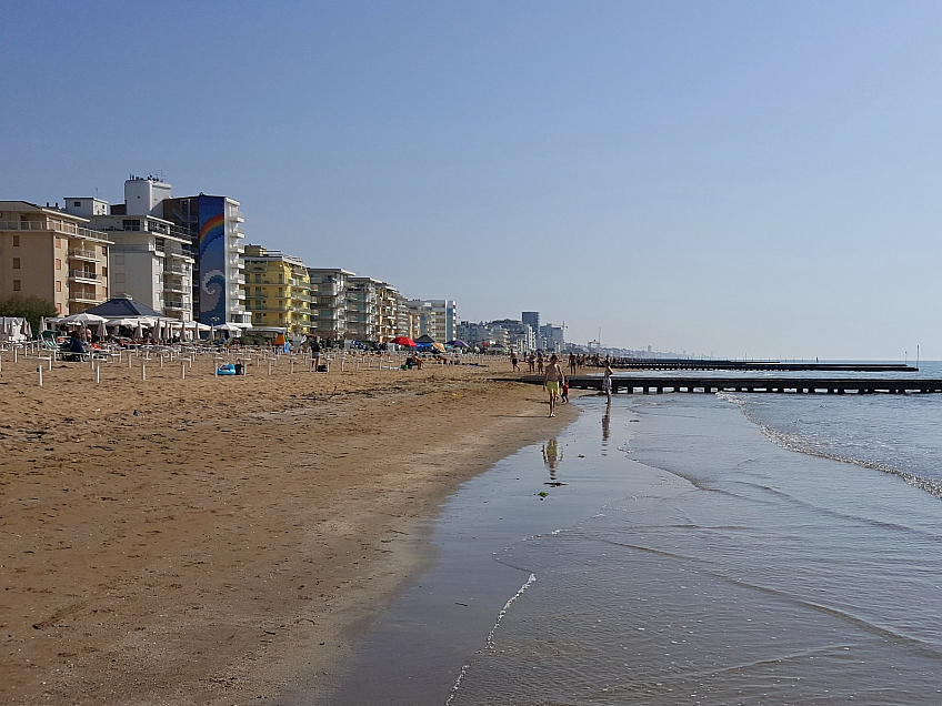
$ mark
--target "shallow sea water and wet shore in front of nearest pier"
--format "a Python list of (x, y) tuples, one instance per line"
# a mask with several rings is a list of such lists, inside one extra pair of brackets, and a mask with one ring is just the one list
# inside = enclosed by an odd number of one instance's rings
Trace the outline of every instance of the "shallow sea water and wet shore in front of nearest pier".
[(942, 395), (580, 404), (443, 508), (352, 673), (395, 678), (334, 703), (942, 703)]

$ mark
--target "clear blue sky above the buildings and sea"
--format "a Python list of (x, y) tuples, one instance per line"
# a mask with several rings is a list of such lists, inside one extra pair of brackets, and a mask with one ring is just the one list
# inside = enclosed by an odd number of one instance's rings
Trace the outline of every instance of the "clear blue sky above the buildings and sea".
[(247, 241), (567, 337), (942, 359), (942, 3), (31, 2), (0, 198)]

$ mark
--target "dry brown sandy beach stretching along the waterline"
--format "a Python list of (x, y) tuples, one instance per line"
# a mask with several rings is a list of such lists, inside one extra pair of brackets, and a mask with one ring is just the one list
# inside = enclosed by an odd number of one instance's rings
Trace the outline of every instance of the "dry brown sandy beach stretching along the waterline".
[(56, 363), (43, 387), (34, 361), (2, 363), (3, 704), (317, 693), (428, 559), (418, 518), (575, 414), (493, 382), (502, 361), (217, 379), (198, 360), (147, 381), (112, 363), (98, 385)]

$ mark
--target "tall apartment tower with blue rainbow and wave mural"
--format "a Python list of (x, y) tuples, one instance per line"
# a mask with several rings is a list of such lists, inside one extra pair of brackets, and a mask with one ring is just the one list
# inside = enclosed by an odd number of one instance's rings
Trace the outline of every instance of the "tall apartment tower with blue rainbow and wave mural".
[[(151, 181), (142, 180), (144, 182)], [(147, 190), (147, 184), (141, 186)], [(228, 196), (163, 198), (160, 216), (187, 233), (196, 260), (193, 314), (200, 323), (252, 325), (245, 310), (245, 218), (239, 202)], [(157, 208), (157, 206), (156, 206)]]

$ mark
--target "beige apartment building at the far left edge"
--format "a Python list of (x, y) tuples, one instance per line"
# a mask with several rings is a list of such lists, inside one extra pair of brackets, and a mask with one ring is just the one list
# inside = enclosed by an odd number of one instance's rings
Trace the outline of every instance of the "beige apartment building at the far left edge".
[(88, 219), (26, 201), (0, 201), (0, 296), (39, 296), (60, 315), (108, 299), (106, 234)]

